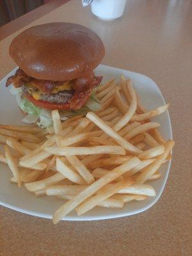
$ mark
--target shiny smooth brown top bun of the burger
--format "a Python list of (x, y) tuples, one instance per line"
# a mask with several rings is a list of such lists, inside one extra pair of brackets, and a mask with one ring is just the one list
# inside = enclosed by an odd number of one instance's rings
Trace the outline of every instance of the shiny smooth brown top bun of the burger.
[(10, 56), (28, 76), (51, 81), (81, 77), (99, 65), (104, 52), (92, 29), (67, 22), (26, 29), (10, 45)]

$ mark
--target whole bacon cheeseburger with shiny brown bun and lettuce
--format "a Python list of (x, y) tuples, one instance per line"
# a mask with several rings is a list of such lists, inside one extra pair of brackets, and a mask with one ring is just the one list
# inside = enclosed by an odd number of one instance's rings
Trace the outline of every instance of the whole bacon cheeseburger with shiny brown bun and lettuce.
[(99, 109), (95, 88), (102, 76), (93, 69), (104, 52), (99, 36), (79, 24), (42, 24), (17, 35), (9, 53), (19, 68), (6, 86), (26, 115), (23, 121), (49, 127), (54, 109), (63, 120)]

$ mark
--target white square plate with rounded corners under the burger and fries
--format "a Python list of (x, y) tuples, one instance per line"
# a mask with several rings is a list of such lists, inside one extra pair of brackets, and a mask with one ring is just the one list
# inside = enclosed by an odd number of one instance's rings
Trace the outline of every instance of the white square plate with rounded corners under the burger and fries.
[[(16, 70), (17, 68), (15, 68)], [(15, 73), (15, 70), (10, 72), (8, 76)], [(120, 68), (108, 67), (99, 65), (96, 68), (96, 74), (104, 76), (104, 81), (109, 79), (119, 79), (122, 74), (129, 77), (133, 81), (134, 88), (138, 91), (141, 102), (146, 109), (153, 109), (163, 105), (164, 99), (158, 86), (152, 79), (138, 73), (122, 70)], [(9, 92), (8, 88), (4, 88), (7, 77), (0, 82), (0, 124), (22, 124), (20, 121), (22, 116), (17, 108), (16, 100)], [(172, 127), (168, 111), (163, 115), (154, 118), (155, 121), (161, 124), (160, 131), (164, 138), (172, 139)], [(95, 207), (83, 216), (77, 216), (76, 212), (70, 212), (63, 220), (83, 221), (83, 220), (104, 220), (110, 218), (118, 218), (123, 216), (130, 216), (143, 212), (154, 205), (161, 193), (170, 170), (170, 162), (163, 164), (160, 172), (162, 176), (160, 179), (149, 182), (156, 189), (156, 197), (150, 197), (147, 200), (131, 202), (125, 204), (123, 209), (105, 209), (102, 207)], [(42, 196), (36, 198), (27, 189), (22, 186), (18, 188), (15, 184), (10, 183), (12, 173), (5, 164), (0, 163), (0, 204), (13, 209), (15, 211), (24, 212), (43, 218), (52, 218), (52, 214), (58, 207), (62, 205), (61, 200), (56, 197)]]

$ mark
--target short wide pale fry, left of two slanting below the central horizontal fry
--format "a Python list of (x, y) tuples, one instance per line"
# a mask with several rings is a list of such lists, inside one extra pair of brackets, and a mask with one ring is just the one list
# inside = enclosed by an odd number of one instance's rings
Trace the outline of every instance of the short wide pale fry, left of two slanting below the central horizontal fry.
[(79, 175), (79, 173), (74, 172), (74, 170), (70, 168), (70, 166), (68, 166), (66, 163), (64, 163), (63, 159), (60, 159), (59, 157), (56, 158), (56, 170), (58, 170), (58, 172), (60, 172), (68, 180), (71, 180), (76, 184), (85, 184), (83, 178)]

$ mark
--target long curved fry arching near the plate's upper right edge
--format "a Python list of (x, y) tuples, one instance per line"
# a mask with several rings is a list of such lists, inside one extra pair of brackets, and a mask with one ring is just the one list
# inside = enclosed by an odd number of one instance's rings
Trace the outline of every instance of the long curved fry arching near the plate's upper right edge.
[(127, 83), (127, 88), (129, 89), (129, 93), (131, 95), (131, 103), (127, 113), (113, 126), (114, 131), (118, 132), (122, 129), (128, 122), (131, 120), (137, 108), (137, 99), (136, 93), (134, 92), (134, 88), (132, 87), (132, 83)]

